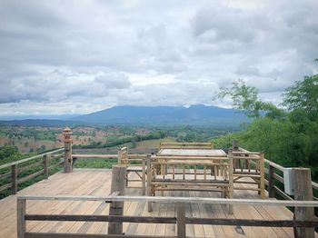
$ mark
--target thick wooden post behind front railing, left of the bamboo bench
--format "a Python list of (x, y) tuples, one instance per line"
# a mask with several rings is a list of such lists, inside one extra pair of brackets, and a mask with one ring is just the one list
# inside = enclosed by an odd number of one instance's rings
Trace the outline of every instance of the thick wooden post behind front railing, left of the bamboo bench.
[[(124, 195), (126, 177), (126, 166), (113, 165), (111, 193), (119, 192), (119, 196)], [(124, 202), (113, 202), (109, 207), (109, 215), (123, 215)], [(108, 223), (108, 234), (122, 234), (123, 223)]]

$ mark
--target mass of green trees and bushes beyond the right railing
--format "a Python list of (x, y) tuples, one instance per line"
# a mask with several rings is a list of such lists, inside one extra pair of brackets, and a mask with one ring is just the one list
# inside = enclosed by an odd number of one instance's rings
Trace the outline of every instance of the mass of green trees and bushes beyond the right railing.
[[(251, 151), (263, 151), (267, 159), (283, 166), (312, 169), (318, 179), (318, 75), (304, 77), (283, 94), (288, 113), (273, 104), (259, 101), (257, 90), (239, 81), (223, 89), (221, 97), (230, 95), (234, 106), (255, 117), (245, 130), (214, 140), (216, 147), (229, 148), (233, 139)], [(265, 112), (265, 116), (262, 116)]]

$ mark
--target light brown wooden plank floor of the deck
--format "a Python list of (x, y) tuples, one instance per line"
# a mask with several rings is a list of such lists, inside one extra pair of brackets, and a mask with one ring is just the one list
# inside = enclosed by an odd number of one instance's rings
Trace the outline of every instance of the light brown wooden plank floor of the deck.
[[(110, 193), (111, 170), (84, 169), (72, 174), (55, 174), (48, 180), (35, 183), (18, 195), (98, 195)], [(140, 195), (139, 189), (127, 189), (126, 194)], [(219, 193), (166, 192), (171, 196), (219, 197)], [(258, 198), (255, 192), (235, 191), (234, 198)], [(0, 200), (0, 237), (16, 237), (16, 195)], [(39, 214), (108, 214), (108, 203), (73, 201), (27, 201), (26, 213)], [(224, 205), (186, 204), (186, 216), (244, 219), (292, 219), (293, 214), (284, 207), (234, 205), (229, 215)], [(154, 203), (154, 212), (148, 213), (145, 203), (124, 204), (127, 215), (174, 216), (174, 203)], [(107, 223), (84, 222), (27, 222), (28, 232), (54, 233), (107, 233)], [(128, 234), (175, 234), (174, 224), (124, 223)], [(292, 228), (234, 227), (223, 225), (186, 225), (189, 236), (195, 237), (293, 237)]]

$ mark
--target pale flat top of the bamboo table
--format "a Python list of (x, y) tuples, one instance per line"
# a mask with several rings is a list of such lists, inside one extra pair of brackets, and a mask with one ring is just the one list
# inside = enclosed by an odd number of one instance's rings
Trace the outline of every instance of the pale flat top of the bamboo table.
[(157, 155), (208, 155), (208, 156), (226, 156), (224, 150), (213, 149), (161, 149)]

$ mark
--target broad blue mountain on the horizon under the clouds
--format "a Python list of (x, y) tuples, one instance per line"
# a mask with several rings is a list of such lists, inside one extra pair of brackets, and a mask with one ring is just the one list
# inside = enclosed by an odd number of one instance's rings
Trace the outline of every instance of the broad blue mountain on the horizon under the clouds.
[(202, 104), (184, 106), (115, 106), (93, 114), (76, 116), (73, 121), (89, 124), (233, 124), (248, 119), (234, 109)]

